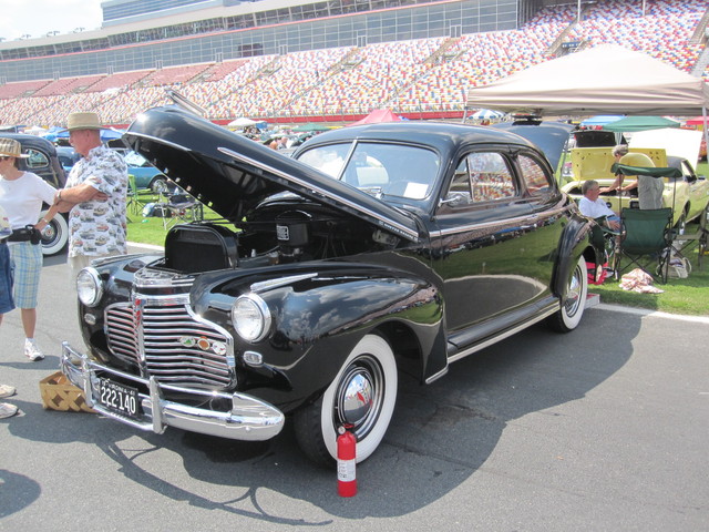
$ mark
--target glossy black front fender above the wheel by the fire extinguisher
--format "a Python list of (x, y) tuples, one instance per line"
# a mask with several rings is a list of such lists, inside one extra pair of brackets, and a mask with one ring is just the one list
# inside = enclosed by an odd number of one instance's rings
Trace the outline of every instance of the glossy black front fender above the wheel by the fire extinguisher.
[(438, 289), (391, 270), (328, 272), (258, 295), (271, 313), (271, 332), (257, 345), (237, 340), (235, 354), (257, 351), (263, 357), (259, 371), (288, 382), (287, 389), (258, 391), (276, 405), (290, 402), (286, 410), (329, 386), (364, 335), (378, 331), (395, 354), (411, 348), (425, 365), (442, 327)]

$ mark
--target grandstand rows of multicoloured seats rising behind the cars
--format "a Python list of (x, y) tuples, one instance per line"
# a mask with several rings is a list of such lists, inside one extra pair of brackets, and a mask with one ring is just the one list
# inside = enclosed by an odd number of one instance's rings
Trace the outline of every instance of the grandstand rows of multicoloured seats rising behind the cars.
[(69, 112), (82, 109), (95, 110), (106, 123), (130, 123), (166, 102), (166, 88), (225, 121), (362, 114), (382, 106), (400, 113), (462, 111), (471, 86), (548, 60), (565, 41), (618, 43), (687, 72), (706, 49), (706, 39), (692, 41), (708, 11), (706, 0), (598, 0), (586, 4), (578, 23), (575, 3), (544, 7), (511, 31), (7, 83), (0, 85), (0, 121), (62, 124)]

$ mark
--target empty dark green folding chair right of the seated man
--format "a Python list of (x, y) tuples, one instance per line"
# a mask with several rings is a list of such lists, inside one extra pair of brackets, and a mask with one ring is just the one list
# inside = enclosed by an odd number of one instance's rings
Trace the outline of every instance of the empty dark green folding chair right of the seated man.
[[(615, 255), (613, 269), (616, 277), (635, 266), (651, 276), (658, 275), (662, 283), (667, 283), (674, 235), (672, 209), (624, 208), (620, 221), (624, 231)], [(629, 262), (620, 268), (623, 257)]]

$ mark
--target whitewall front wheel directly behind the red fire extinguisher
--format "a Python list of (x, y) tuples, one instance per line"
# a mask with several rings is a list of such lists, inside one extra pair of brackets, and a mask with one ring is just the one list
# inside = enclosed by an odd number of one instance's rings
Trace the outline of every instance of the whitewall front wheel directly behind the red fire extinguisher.
[(337, 459), (337, 429), (349, 424), (357, 438), (357, 461), (367, 460), (389, 428), (397, 387), (391, 347), (382, 337), (367, 335), (325, 393), (295, 413), (300, 448), (312, 461), (330, 466)]

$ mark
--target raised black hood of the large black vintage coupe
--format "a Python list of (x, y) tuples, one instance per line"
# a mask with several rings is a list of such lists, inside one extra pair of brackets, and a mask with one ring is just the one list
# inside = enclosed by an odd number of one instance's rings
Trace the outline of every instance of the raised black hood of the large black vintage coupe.
[(289, 191), (410, 241), (419, 238), (417, 223), (407, 214), (177, 105), (140, 114), (123, 141), (232, 223), (265, 198)]

